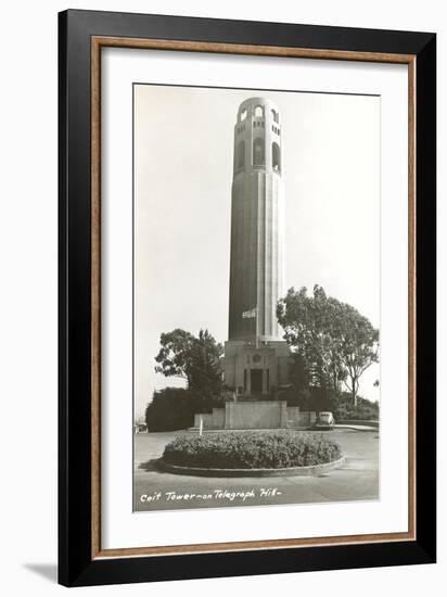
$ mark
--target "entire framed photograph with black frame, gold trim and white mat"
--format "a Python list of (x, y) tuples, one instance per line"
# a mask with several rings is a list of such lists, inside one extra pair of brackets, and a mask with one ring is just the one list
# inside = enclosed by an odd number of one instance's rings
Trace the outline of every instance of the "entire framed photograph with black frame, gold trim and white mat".
[(59, 27), (60, 582), (434, 562), (436, 36)]

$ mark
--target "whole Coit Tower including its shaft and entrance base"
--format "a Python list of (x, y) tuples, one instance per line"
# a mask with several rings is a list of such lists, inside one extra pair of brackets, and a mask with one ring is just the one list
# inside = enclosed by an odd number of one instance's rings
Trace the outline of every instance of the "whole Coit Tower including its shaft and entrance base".
[(286, 382), (289, 350), (276, 315), (284, 277), (282, 174), (279, 109), (268, 99), (250, 98), (240, 105), (234, 125), (225, 352), (226, 383), (245, 394), (268, 393)]

